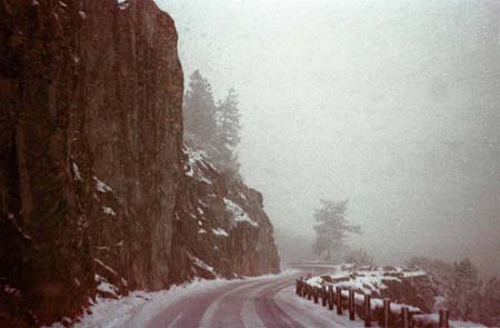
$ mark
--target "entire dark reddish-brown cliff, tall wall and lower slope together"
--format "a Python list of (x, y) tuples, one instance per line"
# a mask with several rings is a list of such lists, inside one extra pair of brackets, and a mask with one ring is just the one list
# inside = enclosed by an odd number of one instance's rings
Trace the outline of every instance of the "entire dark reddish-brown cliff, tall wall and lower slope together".
[[(279, 269), (261, 196), (187, 175), (167, 13), (2, 0), (0, 24), (0, 327), (72, 318), (97, 292)], [(259, 226), (231, 226), (224, 197)], [(229, 237), (198, 233), (192, 216)]]

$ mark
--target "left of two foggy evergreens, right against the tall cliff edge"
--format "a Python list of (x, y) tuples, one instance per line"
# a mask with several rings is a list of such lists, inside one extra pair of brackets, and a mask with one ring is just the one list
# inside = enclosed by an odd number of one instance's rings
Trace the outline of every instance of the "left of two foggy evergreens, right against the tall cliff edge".
[(210, 151), (216, 139), (216, 102), (212, 88), (199, 70), (189, 77), (183, 106), (184, 137), (188, 143)]

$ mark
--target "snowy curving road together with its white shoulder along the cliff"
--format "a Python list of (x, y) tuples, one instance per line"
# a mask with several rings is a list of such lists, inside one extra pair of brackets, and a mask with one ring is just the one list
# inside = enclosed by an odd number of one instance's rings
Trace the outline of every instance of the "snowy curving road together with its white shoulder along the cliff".
[[(170, 290), (99, 299), (74, 328), (362, 327), (294, 294), (288, 271), (241, 280), (202, 280)], [(62, 327), (56, 324), (52, 328)]]

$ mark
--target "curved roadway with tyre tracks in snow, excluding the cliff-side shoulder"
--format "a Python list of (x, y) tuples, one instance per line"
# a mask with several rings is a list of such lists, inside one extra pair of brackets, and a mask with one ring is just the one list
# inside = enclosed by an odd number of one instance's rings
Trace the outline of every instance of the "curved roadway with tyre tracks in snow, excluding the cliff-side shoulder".
[(296, 296), (296, 278), (232, 281), (170, 305), (146, 327), (362, 327)]

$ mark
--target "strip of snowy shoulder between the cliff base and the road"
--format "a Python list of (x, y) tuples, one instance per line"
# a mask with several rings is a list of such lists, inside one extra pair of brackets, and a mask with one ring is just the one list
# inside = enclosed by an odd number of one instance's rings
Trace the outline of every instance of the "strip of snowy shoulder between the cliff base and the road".
[[(143, 327), (168, 306), (201, 292), (216, 290), (223, 286), (241, 281), (258, 281), (294, 275), (296, 270), (284, 270), (279, 275), (266, 275), (243, 279), (194, 280), (184, 285), (172, 286), (160, 291), (133, 291), (127, 297), (107, 299), (98, 297), (90, 307), (90, 315), (83, 315), (74, 328), (138, 328)], [(63, 328), (60, 322), (50, 328)], [(46, 327), (48, 328), (48, 327)]]

